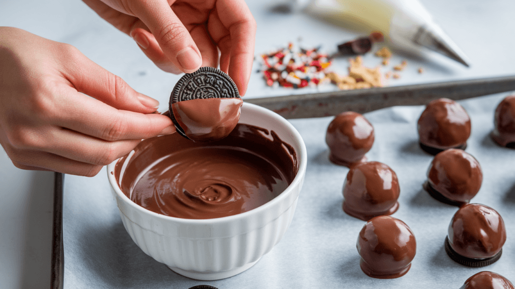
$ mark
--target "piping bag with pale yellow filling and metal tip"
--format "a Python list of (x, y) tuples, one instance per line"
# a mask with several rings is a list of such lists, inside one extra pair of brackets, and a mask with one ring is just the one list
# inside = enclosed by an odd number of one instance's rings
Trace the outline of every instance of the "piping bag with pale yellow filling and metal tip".
[(289, 5), (338, 26), (379, 31), (396, 48), (419, 52), (422, 46), (469, 66), (418, 0), (290, 0)]

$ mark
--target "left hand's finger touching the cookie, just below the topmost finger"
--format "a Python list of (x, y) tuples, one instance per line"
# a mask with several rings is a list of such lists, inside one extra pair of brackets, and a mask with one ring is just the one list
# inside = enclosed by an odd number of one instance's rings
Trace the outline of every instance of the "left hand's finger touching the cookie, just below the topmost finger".
[(73, 91), (63, 92), (62, 101), (54, 125), (106, 140), (138, 140), (175, 132), (170, 118), (161, 114), (143, 114), (118, 110), (107, 104)]

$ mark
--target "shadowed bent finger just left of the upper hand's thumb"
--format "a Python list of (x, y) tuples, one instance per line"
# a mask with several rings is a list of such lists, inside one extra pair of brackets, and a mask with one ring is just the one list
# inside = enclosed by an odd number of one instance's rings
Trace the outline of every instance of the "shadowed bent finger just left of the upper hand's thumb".
[(150, 33), (147, 26), (138, 20), (130, 31), (130, 36), (143, 51), (143, 53), (158, 66), (161, 70), (173, 74), (180, 74), (182, 71), (164, 55), (156, 38)]

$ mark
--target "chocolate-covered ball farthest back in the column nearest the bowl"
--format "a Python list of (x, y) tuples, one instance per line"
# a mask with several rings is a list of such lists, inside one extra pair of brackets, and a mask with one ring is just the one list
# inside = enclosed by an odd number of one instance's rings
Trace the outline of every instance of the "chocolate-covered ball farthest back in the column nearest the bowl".
[(374, 128), (357, 112), (342, 112), (329, 124), (325, 142), (331, 150), (329, 159), (338, 165), (351, 166), (365, 161), (374, 143)]

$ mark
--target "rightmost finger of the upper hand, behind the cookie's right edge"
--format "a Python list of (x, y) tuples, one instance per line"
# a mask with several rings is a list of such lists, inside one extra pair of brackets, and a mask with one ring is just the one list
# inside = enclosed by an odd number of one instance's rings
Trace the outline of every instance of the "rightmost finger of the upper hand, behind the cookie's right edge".
[(208, 27), (222, 52), (220, 67), (228, 65), (229, 76), (244, 95), (254, 58), (255, 20), (246, 4), (237, 0), (218, 1), (212, 15)]

